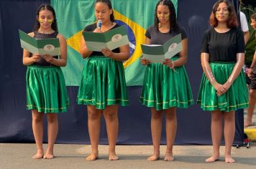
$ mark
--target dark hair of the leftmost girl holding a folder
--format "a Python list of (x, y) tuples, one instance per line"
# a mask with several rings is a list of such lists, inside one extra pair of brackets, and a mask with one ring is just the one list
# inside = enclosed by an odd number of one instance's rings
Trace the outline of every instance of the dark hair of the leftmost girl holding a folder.
[(53, 21), (52, 21), (52, 29), (55, 30), (55, 32), (58, 32), (58, 24), (57, 24), (57, 19), (56, 19), (56, 14), (55, 14), (55, 10), (53, 9), (52, 6), (50, 6), (49, 4), (42, 4), (38, 7), (37, 9), (37, 15), (35, 16), (35, 26), (34, 26), (34, 31), (37, 31), (40, 28), (40, 22), (38, 21), (39, 19), (39, 13), (40, 11), (43, 10), (48, 10), (52, 12), (53, 15)]

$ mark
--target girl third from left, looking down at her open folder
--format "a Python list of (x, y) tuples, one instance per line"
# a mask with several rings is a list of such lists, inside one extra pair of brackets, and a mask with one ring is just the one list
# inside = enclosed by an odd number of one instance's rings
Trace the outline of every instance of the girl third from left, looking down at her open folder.
[(186, 108), (193, 104), (190, 83), (183, 66), (187, 62), (188, 52), (186, 32), (177, 24), (172, 1), (158, 1), (155, 6), (155, 25), (150, 26), (145, 34), (146, 44), (164, 44), (177, 34), (181, 34), (183, 49), (175, 57), (165, 59), (163, 64), (152, 64), (147, 59), (141, 59), (141, 63), (147, 65), (147, 69), (140, 102), (142, 105), (151, 107), (151, 132), (154, 146), (154, 153), (147, 160), (159, 159), (164, 113), (167, 140), (164, 160), (173, 160), (173, 143), (177, 128), (176, 108)]

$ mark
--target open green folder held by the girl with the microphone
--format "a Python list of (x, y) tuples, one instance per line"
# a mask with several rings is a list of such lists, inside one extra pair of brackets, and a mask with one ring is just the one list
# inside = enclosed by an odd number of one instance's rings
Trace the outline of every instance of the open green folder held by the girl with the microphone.
[(119, 26), (104, 33), (83, 32), (83, 37), (86, 40), (86, 47), (97, 52), (100, 52), (101, 49), (113, 50), (129, 44), (125, 26)]

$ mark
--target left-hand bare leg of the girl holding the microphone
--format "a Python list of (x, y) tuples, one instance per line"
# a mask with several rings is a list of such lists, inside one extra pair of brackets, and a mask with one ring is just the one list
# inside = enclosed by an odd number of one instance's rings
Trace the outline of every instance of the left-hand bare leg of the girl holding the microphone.
[(99, 134), (101, 130), (101, 112), (93, 105), (87, 105), (88, 112), (88, 132), (91, 141), (91, 155), (86, 160), (96, 160), (99, 155)]

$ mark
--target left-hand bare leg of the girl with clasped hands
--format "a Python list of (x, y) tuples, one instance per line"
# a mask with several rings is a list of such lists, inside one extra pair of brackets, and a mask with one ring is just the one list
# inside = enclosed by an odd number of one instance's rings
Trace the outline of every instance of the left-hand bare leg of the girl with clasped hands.
[(214, 147), (214, 154), (206, 159), (206, 162), (214, 162), (219, 159), (219, 147), (222, 137), (222, 112), (219, 110), (211, 112), (211, 140)]

